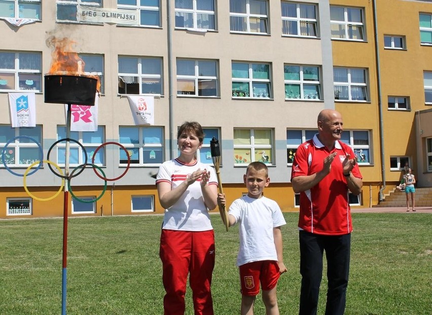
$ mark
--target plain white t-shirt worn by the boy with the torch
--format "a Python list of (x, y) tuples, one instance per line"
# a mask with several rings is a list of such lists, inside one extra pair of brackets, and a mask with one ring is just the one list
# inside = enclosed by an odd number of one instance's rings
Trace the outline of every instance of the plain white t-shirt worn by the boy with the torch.
[(261, 260), (276, 260), (273, 228), (285, 225), (282, 211), (276, 201), (247, 195), (236, 199), (228, 214), (239, 224), (240, 248), (237, 266)]

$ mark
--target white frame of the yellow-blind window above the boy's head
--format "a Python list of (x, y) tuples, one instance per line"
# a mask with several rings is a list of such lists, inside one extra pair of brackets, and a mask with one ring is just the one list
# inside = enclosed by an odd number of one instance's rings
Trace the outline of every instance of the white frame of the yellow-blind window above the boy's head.
[[(249, 144), (236, 144), (236, 130), (248, 130), (249, 131)], [(270, 145), (265, 145), (265, 144), (256, 144), (255, 143), (255, 133), (256, 131), (270, 131)], [(258, 154), (266, 154), (267, 152), (269, 152), (269, 157), (270, 157), (270, 161), (269, 162), (264, 162), (261, 161), (261, 159), (258, 159), (257, 161), (263, 162), (265, 163), (267, 166), (270, 165), (276, 165), (275, 162), (275, 148), (274, 148), (274, 128), (234, 128), (234, 133), (233, 133), (233, 160), (234, 160), (234, 167), (237, 166), (247, 166), (249, 163), (247, 163), (247, 159), (246, 161), (244, 161), (244, 159), (242, 159), (242, 156), (239, 154), (236, 154), (236, 150), (244, 150), (244, 151), (249, 151), (249, 154), (245, 153), (246, 155), (250, 156), (250, 162), (254, 162), (256, 161), (255, 157)], [(257, 153), (258, 151), (262, 151), (262, 153)], [(241, 161), (241, 162), (240, 162)]]

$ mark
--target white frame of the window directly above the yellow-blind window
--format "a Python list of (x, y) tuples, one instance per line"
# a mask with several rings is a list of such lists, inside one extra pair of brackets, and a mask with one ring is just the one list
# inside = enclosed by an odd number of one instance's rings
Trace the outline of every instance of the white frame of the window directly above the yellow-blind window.
[[(233, 77), (234, 76), (234, 70), (233, 65), (234, 64), (247, 64), (248, 65), (248, 77), (247, 78), (241, 78), (241, 77)], [(269, 79), (261, 79), (261, 78), (254, 78), (254, 65), (267, 65), (268, 66), (268, 77)], [(244, 84), (247, 83), (248, 85), (248, 92), (236, 92), (234, 90), (233, 85), (234, 84)], [(267, 84), (268, 85), (268, 95), (261, 96), (262, 93), (255, 94), (251, 93), (250, 91), (254, 90), (254, 84)], [(241, 88), (240, 88), (241, 89)], [(234, 94), (239, 95), (234, 95)], [(244, 93), (244, 96), (242, 96)], [(273, 91), (272, 91), (272, 64), (270, 62), (247, 62), (247, 61), (232, 61), (231, 62), (231, 95), (233, 99), (240, 98), (240, 99), (272, 99), (273, 97)], [(255, 96), (260, 95), (260, 96)]]

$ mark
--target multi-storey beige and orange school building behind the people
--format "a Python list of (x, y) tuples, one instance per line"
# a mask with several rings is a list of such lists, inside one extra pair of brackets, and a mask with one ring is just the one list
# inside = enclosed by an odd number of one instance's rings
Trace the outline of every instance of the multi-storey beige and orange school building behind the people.
[[(206, 133), (202, 162), (219, 139), (228, 200), (263, 161), (266, 196), (295, 211), (293, 157), (322, 109), (342, 113), (359, 160), (352, 207), (378, 204), (406, 162), (432, 186), (432, 1), (3, 0), (0, 34), (0, 218), (62, 216), (66, 184), (79, 198), (69, 216), (163, 213), (154, 175), (192, 120)], [(44, 83), (61, 40), (101, 83), (97, 131), (71, 131), (67, 158), (66, 107), (45, 102)], [(30, 119), (15, 113), (20, 93), (34, 98), (35, 127), (12, 127)], [(152, 124), (135, 124), (136, 96), (153, 103)]]

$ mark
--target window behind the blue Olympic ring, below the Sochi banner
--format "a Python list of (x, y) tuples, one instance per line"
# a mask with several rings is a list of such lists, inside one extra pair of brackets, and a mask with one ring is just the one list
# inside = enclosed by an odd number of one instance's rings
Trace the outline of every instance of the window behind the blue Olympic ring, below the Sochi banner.
[[(20, 137), (12, 141), (13, 138)], [(28, 137), (34, 139), (32, 141)], [(3, 152), (6, 144), (10, 142), (6, 148), (5, 155), (2, 157), (4, 163), (11, 166), (29, 166), (36, 161), (43, 160), (41, 156), (42, 146), (42, 127), (21, 127), (12, 128), (8, 126), (0, 126), (0, 152)], [(0, 164), (3, 166), (3, 163)]]

